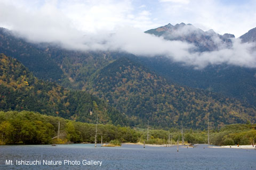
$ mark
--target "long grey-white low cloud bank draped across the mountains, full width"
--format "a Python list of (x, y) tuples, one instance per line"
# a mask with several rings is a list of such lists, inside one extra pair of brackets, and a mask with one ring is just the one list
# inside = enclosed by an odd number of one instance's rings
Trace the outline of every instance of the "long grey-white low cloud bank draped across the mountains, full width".
[[(113, 31), (98, 30), (85, 32), (77, 30), (72, 20), (52, 6), (44, 6), (37, 12), (29, 12), (10, 4), (0, 3), (0, 23), (7, 25), (15, 35), (33, 43), (60, 43), (63, 48), (76, 50), (113, 50), (139, 56), (163, 55), (174, 62), (182, 62), (203, 68), (209, 64), (233, 64), (256, 67), (255, 44), (241, 43), (233, 38), (229, 48), (213, 52), (196, 52), (193, 44), (169, 41), (142, 32), (133, 27), (118, 27)], [(214, 41), (220, 46), (219, 39)]]

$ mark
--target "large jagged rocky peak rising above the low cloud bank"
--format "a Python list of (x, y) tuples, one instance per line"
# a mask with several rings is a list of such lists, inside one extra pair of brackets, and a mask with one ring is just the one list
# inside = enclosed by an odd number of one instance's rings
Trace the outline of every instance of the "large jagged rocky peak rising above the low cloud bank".
[(231, 38), (235, 38), (234, 35), (225, 33), (219, 35), (213, 30), (203, 31), (194, 27), (192, 24), (180, 23), (176, 25), (167, 24), (163, 27), (158, 27), (145, 31), (158, 37), (163, 37), (166, 40), (179, 40), (185, 41), (190, 44), (194, 44), (198, 47), (198, 51), (212, 51), (221, 48), (229, 47), (231, 45)]

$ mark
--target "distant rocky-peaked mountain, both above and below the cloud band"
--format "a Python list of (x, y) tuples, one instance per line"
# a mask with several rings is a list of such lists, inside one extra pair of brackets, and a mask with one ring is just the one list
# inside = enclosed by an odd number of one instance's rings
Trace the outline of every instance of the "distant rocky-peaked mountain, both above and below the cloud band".
[[(249, 41), (248, 38), (255, 39), (255, 31), (256, 29), (252, 29), (240, 38), (244, 42)], [(191, 24), (184, 23), (174, 26), (167, 24), (163, 27), (148, 30), (146, 33), (163, 36), (167, 40), (193, 43), (201, 51), (218, 50), (218, 46), (221, 45), (228, 47), (231, 45), (230, 38), (235, 37), (227, 33), (221, 36), (214, 31), (204, 32)], [(221, 42), (220, 44), (214, 43), (216, 38), (219, 40), (217, 42)], [(218, 92), (228, 97), (237, 98), (243, 103), (256, 105), (256, 69), (254, 68), (221, 64), (209, 65), (204, 69), (195, 70), (193, 66), (174, 63), (164, 56), (141, 57), (140, 61), (162, 77), (177, 84)]]

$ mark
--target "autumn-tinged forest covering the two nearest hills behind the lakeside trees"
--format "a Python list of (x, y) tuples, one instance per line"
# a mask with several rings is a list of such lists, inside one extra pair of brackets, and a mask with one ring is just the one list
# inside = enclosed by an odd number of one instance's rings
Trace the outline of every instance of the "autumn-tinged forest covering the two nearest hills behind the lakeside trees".
[(39, 80), (17, 60), (0, 57), (2, 111), (28, 110), (87, 123), (99, 114), (102, 123), (141, 128), (149, 120), (154, 128), (183, 122), (204, 129), (208, 113), (215, 127), (255, 121), (254, 107), (246, 108), (238, 100), (210, 91), (170, 85), (129, 58), (119, 58), (99, 71), (87, 86), (90, 95)]

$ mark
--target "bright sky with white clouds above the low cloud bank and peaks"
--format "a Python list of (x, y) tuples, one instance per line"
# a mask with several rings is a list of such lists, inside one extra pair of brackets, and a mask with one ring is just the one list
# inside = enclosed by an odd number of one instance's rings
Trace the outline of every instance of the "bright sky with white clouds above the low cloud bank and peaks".
[[(73, 27), (86, 32), (113, 30), (124, 25), (146, 31), (168, 23), (184, 22), (205, 31), (213, 29), (220, 34), (232, 33), (239, 37), (256, 27), (255, 0), (0, 0), (0, 4), (31, 15), (40, 12), (45, 12), (45, 17), (61, 15), (60, 18), (68, 18)], [(0, 26), (12, 28), (13, 24), (2, 22)]]

